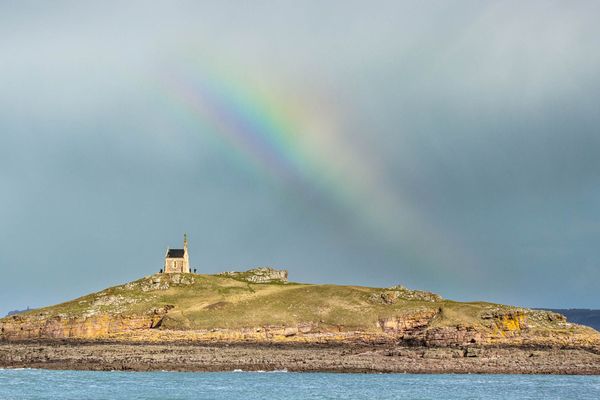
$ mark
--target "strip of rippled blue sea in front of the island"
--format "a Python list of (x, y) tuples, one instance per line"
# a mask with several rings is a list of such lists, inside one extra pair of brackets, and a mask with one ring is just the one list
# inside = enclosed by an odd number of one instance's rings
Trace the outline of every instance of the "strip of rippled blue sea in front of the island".
[(0, 399), (600, 399), (600, 376), (0, 370)]

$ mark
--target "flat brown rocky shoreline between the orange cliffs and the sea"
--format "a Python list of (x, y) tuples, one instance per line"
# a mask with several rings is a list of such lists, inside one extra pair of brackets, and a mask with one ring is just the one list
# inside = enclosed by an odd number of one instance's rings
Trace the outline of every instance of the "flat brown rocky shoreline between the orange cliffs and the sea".
[(0, 343), (1, 368), (600, 375), (600, 349), (292, 343)]

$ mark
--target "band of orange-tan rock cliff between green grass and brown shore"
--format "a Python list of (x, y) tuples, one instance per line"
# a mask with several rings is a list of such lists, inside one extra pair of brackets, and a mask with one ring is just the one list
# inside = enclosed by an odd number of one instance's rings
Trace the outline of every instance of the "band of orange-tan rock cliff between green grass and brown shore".
[[(168, 311), (168, 310), (167, 310)], [(164, 313), (151, 315), (99, 314), (89, 317), (44, 318), (40, 315), (15, 315), (0, 321), (1, 338), (21, 340), (115, 340), (143, 342), (296, 342), (296, 343), (389, 343), (429, 347), (469, 345), (559, 345), (599, 346), (592, 329), (569, 333), (539, 334), (530, 330), (525, 313), (495, 315), (490, 318), (494, 329), (457, 324), (436, 326), (439, 312), (415, 312), (380, 319), (373, 330), (361, 331), (344, 326), (305, 323), (297, 326), (262, 326), (239, 329), (168, 330), (161, 329)]]

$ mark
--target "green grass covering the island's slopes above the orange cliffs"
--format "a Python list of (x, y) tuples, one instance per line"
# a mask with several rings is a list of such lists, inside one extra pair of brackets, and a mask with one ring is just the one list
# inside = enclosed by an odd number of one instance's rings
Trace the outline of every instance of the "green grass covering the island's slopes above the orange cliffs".
[[(178, 279), (186, 282), (177, 283)], [(159, 281), (158, 283), (156, 283)], [(192, 282), (193, 281), (193, 282)], [(168, 282), (168, 288), (162, 283)], [(158, 286), (158, 287), (153, 287)], [(148, 290), (144, 290), (144, 288)], [(416, 311), (440, 310), (431, 326), (483, 326), (480, 315), (512, 307), (484, 302), (462, 303), (399, 299), (373, 300), (386, 289), (361, 286), (288, 283), (255, 284), (219, 275), (152, 275), (23, 315), (47, 318), (94, 313), (139, 315), (174, 306), (162, 327), (171, 329), (247, 328), (318, 323), (344, 329), (374, 330), (378, 319)], [(551, 325), (551, 324), (550, 324)]]

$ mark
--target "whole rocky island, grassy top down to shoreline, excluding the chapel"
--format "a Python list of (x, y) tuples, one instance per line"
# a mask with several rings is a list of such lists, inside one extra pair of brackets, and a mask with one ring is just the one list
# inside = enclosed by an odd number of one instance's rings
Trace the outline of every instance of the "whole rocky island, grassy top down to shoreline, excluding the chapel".
[(0, 367), (600, 374), (558, 313), (255, 268), (160, 273), (0, 320)]

